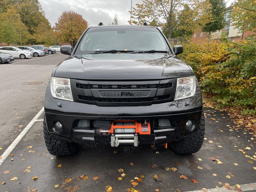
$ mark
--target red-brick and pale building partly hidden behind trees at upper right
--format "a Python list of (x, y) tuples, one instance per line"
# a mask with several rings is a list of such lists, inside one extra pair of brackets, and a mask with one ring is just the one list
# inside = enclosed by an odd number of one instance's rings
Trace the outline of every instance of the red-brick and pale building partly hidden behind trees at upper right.
[[(233, 7), (227, 7), (225, 11), (225, 21), (226, 26), (223, 30), (217, 31), (211, 34), (211, 39), (218, 39), (222, 36), (222, 34), (226, 34), (228, 38), (234, 42), (240, 41), (242, 38), (247, 37), (251, 34), (256, 34), (253, 31), (244, 31), (240, 32), (237, 28), (232, 25), (232, 21), (230, 18), (231, 11), (233, 11)], [(201, 28), (197, 29), (191, 36), (191, 41), (195, 43), (201, 43), (207, 41), (207, 32), (202, 32)]]

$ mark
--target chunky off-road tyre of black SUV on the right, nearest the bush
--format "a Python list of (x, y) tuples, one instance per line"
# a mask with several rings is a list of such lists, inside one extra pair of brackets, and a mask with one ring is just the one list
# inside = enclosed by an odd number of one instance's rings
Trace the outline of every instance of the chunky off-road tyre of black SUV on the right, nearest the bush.
[(202, 113), (200, 127), (197, 132), (194, 132), (182, 140), (172, 142), (170, 144), (172, 150), (174, 150), (177, 154), (192, 154), (199, 151), (204, 141), (204, 125), (204, 114)]

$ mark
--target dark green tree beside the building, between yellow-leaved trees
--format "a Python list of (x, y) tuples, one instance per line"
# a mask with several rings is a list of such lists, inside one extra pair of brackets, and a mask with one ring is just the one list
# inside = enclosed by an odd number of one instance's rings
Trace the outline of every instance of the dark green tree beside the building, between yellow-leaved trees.
[(206, 25), (202, 28), (203, 32), (207, 32), (208, 41), (210, 40), (210, 34), (212, 32), (216, 32), (222, 30), (225, 25), (224, 12), (226, 3), (224, 0), (209, 0), (212, 5), (212, 9), (208, 9), (208, 12), (212, 13), (212, 21), (206, 23)]

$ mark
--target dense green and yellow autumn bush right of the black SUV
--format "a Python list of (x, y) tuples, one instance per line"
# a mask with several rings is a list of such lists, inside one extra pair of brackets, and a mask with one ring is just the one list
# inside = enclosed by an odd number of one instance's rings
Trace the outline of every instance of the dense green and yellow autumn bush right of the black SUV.
[(217, 108), (242, 106), (256, 113), (256, 39), (185, 44), (181, 57), (190, 65), (202, 92)]

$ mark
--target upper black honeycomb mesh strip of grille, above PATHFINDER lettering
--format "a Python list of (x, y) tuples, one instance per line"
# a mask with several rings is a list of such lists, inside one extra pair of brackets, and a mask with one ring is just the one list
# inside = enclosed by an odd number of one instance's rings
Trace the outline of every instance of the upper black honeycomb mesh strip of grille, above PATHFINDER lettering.
[(164, 84), (143, 84), (143, 85), (90, 85), (90, 84), (76, 84), (77, 88), (80, 89), (162, 89), (172, 87), (172, 83)]

